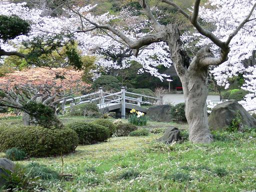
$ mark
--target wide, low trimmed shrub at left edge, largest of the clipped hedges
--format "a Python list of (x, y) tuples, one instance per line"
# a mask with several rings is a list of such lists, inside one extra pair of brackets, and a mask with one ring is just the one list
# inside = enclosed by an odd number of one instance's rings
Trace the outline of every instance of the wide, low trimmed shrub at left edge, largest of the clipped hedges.
[(44, 157), (73, 152), (78, 145), (77, 134), (69, 128), (11, 126), (0, 128), (0, 151), (19, 147), (29, 156)]

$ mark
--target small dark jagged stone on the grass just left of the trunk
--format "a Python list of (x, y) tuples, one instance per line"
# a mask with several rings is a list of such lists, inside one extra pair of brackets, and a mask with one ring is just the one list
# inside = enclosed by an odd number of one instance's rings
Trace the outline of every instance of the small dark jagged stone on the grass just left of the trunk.
[(158, 138), (156, 141), (164, 142), (164, 143), (171, 143), (173, 141), (180, 140), (180, 132), (176, 127), (169, 127), (165, 130), (164, 134)]

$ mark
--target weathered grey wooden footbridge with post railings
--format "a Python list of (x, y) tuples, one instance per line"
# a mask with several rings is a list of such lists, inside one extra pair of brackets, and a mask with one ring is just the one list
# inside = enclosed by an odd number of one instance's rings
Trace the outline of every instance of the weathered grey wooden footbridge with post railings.
[[(65, 112), (67, 108), (75, 105), (95, 102), (102, 113), (115, 112), (116, 117), (125, 118), (125, 112), (132, 108), (146, 113), (147, 108), (141, 107), (141, 103), (153, 104), (152, 100), (157, 98), (125, 91), (125, 87), (121, 87), (121, 91), (115, 93), (105, 92), (102, 87), (99, 87), (97, 92), (69, 98), (61, 101), (60, 104), (62, 111)], [(68, 103), (69, 105), (66, 105)]]

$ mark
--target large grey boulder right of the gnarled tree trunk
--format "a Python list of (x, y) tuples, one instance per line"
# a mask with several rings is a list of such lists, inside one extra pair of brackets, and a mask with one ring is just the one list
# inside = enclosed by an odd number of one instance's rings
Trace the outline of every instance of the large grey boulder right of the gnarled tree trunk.
[(256, 128), (256, 119), (253, 118), (235, 100), (228, 100), (217, 104), (208, 117), (209, 127), (213, 130), (222, 129), (229, 125), (233, 118), (240, 114), (241, 127)]

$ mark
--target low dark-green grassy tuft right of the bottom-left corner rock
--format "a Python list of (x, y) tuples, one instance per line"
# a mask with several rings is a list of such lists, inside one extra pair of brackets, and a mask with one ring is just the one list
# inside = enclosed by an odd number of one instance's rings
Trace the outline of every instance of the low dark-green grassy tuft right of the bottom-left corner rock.
[(40, 179), (43, 180), (59, 178), (59, 175), (56, 171), (48, 168), (44, 164), (39, 164), (37, 162), (30, 162), (25, 166), (25, 169), (29, 177), (32, 178), (39, 177)]

